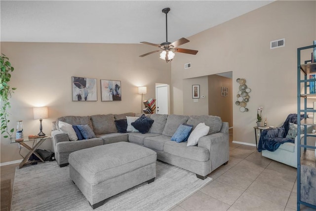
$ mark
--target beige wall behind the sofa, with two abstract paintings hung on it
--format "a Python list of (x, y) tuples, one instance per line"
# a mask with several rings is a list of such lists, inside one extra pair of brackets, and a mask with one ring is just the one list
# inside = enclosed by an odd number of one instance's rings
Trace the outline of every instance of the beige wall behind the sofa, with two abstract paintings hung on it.
[[(48, 106), (49, 118), (43, 119), (43, 132), (50, 134), (51, 122), (65, 115), (120, 114), (141, 111), (137, 86), (147, 86), (144, 99), (155, 97), (155, 84), (170, 84), (170, 63), (153, 54), (143, 44), (31, 43), (1, 42), (1, 53), (15, 68), (10, 85), (17, 87), (10, 100), (9, 119), (16, 127), (23, 120), (24, 135), (39, 132), (33, 107)], [(97, 79), (96, 102), (73, 102), (71, 77)], [(121, 81), (121, 101), (101, 102), (100, 79)], [(22, 159), (17, 144), (1, 136), (1, 163)], [(50, 149), (50, 141), (42, 144)], [(21, 154), (26, 155), (22, 149)]]

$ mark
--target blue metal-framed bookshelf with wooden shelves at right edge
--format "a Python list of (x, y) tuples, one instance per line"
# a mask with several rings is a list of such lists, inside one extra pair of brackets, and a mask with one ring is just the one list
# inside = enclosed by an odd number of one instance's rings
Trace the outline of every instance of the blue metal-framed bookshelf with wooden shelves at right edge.
[[(313, 114), (316, 120), (316, 106), (309, 107), (307, 104), (308, 97), (315, 97), (316, 93), (310, 93), (309, 85), (315, 84), (315, 77), (310, 75), (316, 74), (316, 61), (313, 57), (311, 60), (301, 61), (301, 52), (315, 52), (316, 44), (297, 48), (297, 118), (304, 114), (304, 119), (299, 122), (297, 127), (297, 136), (301, 135), (301, 126), (304, 126), (303, 143), (297, 143), (297, 211), (301, 210), (301, 205), (316, 209), (316, 146), (308, 145), (307, 138), (315, 137), (316, 134), (307, 134), (307, 126), (316, 126), (316, 121), (307, 118), (308, 114)], [(306, 55), (306, 52), (304, 52)], [(313, 54), (312, 54), (313, 56)], [(303, 84), (304, 91), (301, 93)], [(316, 105), (316, 103), (315, 103)], [(303, 133), (302, 133), (303, 134)]]

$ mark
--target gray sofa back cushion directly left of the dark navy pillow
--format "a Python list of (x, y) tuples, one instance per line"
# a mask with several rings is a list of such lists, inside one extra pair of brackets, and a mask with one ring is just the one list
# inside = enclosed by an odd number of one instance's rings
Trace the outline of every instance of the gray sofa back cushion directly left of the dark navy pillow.
[(106, 134), (118, 132), (114, 122), (114, 115), (93, 115), (91, 116), (93, 131), (95, 134)]

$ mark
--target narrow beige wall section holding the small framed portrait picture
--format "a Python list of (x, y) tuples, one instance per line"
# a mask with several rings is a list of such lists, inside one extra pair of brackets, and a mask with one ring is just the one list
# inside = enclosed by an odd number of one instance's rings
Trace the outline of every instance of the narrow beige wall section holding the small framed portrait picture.
[[(194, 102), (192, 98), (192, 85), (199, 85), (199, 99)], [(202, 98), (201, 96), (205, 96)], [(183, 80), (183, 111), (186, 115), (208, 114), (208, 88), (207, 77)]]

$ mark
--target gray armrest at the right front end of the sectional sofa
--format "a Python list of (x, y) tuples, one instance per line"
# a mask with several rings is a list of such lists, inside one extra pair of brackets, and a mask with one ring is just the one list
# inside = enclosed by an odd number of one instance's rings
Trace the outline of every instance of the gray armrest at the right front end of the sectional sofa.
[(229, 133), (217, 132), (203, 136), (199, 138), (197, 146), (208, 149), (211, 171), (229, 160)]

